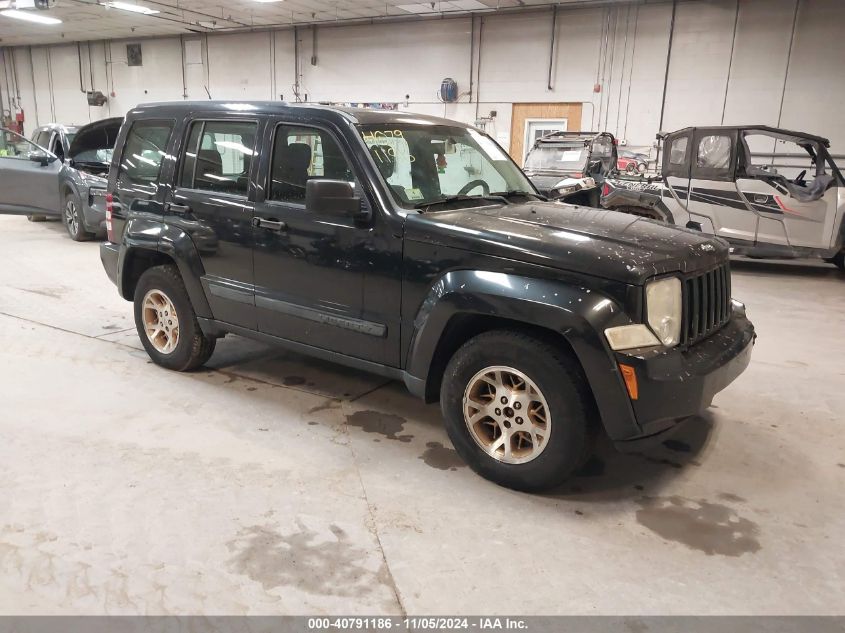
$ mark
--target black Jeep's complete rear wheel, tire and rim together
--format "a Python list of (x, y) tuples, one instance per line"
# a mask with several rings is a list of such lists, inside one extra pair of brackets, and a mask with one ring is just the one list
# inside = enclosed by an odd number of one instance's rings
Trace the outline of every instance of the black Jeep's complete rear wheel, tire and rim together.
[(214, 353), (217, 339), (203, 334), (179, 270), (156, 266), (135, 287), (135, 327), (156, 365), (190, 371)]

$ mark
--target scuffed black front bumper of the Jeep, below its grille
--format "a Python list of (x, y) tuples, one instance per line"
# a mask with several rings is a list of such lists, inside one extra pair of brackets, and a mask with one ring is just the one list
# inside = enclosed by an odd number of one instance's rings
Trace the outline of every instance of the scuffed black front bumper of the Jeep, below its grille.
[(748, 367), (756, 337), (744, 311), (734, 309), (727, 325), (688, 349), (615, 352), (617, 363), (636, 371), (639, 394), (631, 406), (641, 429), (633, 437), (615, 438), (617, 448), (660, 441), (679, 422), (709, 407)]

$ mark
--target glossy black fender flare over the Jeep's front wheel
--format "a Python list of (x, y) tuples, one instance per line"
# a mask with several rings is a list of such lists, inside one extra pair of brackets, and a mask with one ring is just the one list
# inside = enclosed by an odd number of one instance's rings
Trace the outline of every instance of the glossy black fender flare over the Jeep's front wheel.
[(614, 299), (556, 280), (475, 270), (446, 273), (432, 285), (413, 322), (405, 382), (417, 395), (424, 396), (438, 344), (457, 315), (504, 318), (559, 334), (581, 364), (608, 434), (630, 437), (639, 432), (604, 339), (606, 328), (631, 323)]

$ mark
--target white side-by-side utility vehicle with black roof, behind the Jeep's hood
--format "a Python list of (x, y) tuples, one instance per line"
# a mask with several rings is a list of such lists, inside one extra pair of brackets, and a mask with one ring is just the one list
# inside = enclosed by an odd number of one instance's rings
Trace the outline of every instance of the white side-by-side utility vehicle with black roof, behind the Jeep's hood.
[(602, 207), (712, 233), (737, 255), (845, 267), (845, 181), (827, 139), (766, 126), (685, 128), (658, 139), (662, 177), (613, 174)]

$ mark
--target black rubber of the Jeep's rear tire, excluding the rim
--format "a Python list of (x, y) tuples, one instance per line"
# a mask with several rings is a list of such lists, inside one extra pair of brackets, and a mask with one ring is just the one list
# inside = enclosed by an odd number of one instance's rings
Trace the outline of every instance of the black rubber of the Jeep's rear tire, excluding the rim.
[[(163, 292), (173, 303), (179, 319), (179, 337), (172, 352), (167, 354), (153, 346), (144, 329), (143, 302), (151, 290)], [(217, 339), (206, 336), (197, 321), (188, 291), (179, 270), (173, 265), (149, 268), (135, 287), (135, 328), (141, 344), (156, 365), (175, 371), (190, 371), (203, 365), (214, 353)]]

